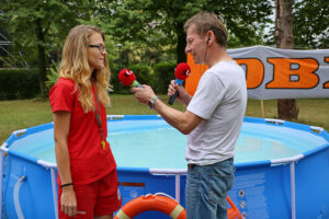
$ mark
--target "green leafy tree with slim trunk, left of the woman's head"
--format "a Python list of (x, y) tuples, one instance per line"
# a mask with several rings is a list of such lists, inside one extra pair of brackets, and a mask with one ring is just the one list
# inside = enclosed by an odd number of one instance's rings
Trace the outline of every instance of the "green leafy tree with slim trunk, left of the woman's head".
[(31, 53), (29, 56), (36, 56), (42, 96), (45, 96), (46, 69), (49, 65), (47, 51), (61, 48), (68, 31), (79, 20), (89, 20), (89, 7), (88, 0), (9, 0), (2, 3), (0, 16), (11, 41), (25, 53)]

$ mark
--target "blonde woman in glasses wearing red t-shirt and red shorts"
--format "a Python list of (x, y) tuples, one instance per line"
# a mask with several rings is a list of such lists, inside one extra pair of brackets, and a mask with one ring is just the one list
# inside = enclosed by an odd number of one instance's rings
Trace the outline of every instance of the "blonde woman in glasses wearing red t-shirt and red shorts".
[(106, 141), (109, 81), (104, 34), (95, 26), (73, 27), (49, 92), (60, 219), (110, 219), (121, 206), (116, 163)]

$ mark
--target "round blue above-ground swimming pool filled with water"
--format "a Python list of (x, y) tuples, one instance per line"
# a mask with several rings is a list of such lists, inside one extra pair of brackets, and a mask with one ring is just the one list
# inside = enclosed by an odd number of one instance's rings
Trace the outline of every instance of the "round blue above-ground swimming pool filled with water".
[[(184, 206), (186, 137), (158, 116), (109, 116), (107, 127), (123, 204), (166, 193)], [(246, 219), (329, 218), (328, 148), (321, 128), (246, 117), (228, 195)], [(2, 218), (57, 217), (53, 124), (14, 131), (1, 147), (1, 163)]]

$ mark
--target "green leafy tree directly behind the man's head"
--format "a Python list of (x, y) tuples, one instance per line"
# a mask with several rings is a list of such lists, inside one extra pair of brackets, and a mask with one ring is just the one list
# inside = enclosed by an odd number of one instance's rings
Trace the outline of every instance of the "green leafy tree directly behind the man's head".
[(177, 61), (185, 61), (184, 22), (205, 10), (218, 14), (229, 32), (228, 46), (249, 46), (262, 42), (262, 31), (270, 22), (273, 5), (259, 0), (111, 0), (99, 4), (99, 18), (118, 42), (145, 41), (175, 45)]

